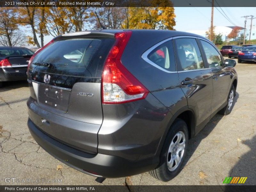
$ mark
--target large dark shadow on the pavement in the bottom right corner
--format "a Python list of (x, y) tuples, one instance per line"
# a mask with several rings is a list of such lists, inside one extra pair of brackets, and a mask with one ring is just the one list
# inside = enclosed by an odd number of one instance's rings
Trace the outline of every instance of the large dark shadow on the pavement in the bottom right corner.
[[(253, 133), (255, 134), (255, 132)], [(248, 177), (244, 182), (244, 185), (256, 185), (256, 135), (254, 135), (252, 139), (242, 140), (241, 143), (247, 145), (250, 148), (250, 151), (238, 157), (239, 161), (230, 170), (227, 177)], [(225, 187), (225, 191), (231, 192), (231, 189), (232, 188), (228, 188), (228, 186)]]

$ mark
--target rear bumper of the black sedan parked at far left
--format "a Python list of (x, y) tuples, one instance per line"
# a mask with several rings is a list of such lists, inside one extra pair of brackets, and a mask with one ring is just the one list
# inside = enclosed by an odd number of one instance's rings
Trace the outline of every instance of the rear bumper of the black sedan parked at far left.
[(27, 79), (27, 69), (0, 68), (0, 81), (20, 81)]

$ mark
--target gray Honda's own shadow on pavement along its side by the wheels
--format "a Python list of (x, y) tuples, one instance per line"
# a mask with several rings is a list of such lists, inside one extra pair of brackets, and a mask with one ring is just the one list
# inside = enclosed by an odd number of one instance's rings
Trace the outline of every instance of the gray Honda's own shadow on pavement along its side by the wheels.
[[(236, 96), (234, 97), (233, 101), (233, 106), (236, 104), (238, 98), (239, 93), (236, 92)], [(205, 125), (205, 127), (194, 138), (188, 141), (187, 155), (184, 158), (184, 164), (182, 168), (184, 168), (188, 164), (189, 159), (196, 151), (196, 148), (199, 146), (200, 142), (212, 132), (212, 130), (215, 128), (215, 126), (219, 123), (219, 121), (222, 118), (223, 115), (220, 114), (216, 114), (215, 116), (213, 116), (212, 119)]]

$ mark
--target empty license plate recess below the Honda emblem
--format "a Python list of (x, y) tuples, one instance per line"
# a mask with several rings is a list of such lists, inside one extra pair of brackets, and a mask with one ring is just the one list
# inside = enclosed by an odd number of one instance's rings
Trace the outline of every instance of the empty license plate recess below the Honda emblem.
[(51, 106), (61, 111), (68, 110), (70, 91), (50, 87), (47, 85), (38, 85), (38, 101), (41, 104)]

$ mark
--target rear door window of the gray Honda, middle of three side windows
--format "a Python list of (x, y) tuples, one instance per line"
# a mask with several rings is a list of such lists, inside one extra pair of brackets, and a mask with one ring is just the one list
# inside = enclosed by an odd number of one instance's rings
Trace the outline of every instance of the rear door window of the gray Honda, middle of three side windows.
[(178, 71), (203, 69), (204, 62), (196, 39), (175, 39)]

